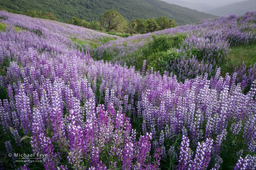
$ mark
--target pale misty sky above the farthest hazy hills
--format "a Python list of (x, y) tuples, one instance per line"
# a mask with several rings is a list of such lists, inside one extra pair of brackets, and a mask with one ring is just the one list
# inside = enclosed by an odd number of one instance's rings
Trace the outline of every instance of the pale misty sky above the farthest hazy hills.
[(186, 2), (191, 2), (191, 3), (205, 3), (205, 4), (210, 4), (211, 6), (223, 6), (227, 4), (232, 4), (244, 0), (181, 0), (181, 1), (186, 1)]

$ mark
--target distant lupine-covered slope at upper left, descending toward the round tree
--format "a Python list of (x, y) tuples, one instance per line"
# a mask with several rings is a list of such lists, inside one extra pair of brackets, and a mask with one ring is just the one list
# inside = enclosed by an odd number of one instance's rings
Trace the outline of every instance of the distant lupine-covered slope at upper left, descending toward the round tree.
[[(99, 33), (87, 28), (78, 27), (70, 24), (59, 23), (53, 20), (45, 20), (40, 18), (31, 18), (23, 15), (11, 14), (6, 11), (0, 11), (1, 23), (8, 26), (19, 27), (31, 34), (36, 33), (39, 35), (42, 48), (51, 51), (63, 52), (69, 48), (76, 48), (76, 46), (83, 47), (89, 50), (89, 44), (95, 43), (102, 45), (101, 40), (109, 38), (115, 40), (118, 37)], [(84, 44), (72, 43), (72, 40), (82, 41)]]

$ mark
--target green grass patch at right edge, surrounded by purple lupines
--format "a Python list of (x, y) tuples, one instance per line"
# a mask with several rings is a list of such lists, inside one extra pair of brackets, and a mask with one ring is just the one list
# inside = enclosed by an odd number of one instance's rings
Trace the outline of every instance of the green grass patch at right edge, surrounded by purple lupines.
[(253, 65), (256, 62), (256, 44), (232, 48), (226, 57), (226, 61), (221, 65), (221, 70), (232, 73), (234, 68), (241, 65), (243, 61), (246, 66)]

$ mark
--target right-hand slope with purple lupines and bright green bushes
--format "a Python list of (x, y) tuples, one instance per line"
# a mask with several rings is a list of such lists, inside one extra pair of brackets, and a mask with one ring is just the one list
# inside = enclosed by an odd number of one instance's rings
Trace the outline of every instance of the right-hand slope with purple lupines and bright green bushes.
[[(228, 62), (226, 57), (231, 49), (249, 44), (256, 44), (255, 12), (134, 35), (101, 45), (93, 50), (93, 54), (96, 59), (134, 65), (136, 69), (141, 69), (145, 59), (148, 69), (153, 67), (161, 74), (174, 72), (179, 80), (184, 81), (198, 74), (215, 75), (217, 68)], [(165, 48), (164, 45), (169, 46)], [(239, 75), (237, 82), (242, 82), (243, 89), (248, 88), (256, 78), (255, 71), (252, 71), (255, 66), (247, 65), (247, 69), (236, 66), (235, 70), (232, 69)]]

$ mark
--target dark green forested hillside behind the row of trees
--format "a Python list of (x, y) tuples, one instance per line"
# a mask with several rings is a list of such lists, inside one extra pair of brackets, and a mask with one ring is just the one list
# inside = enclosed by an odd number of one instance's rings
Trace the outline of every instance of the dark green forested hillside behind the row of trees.
[(173, 18), (179, 25), (214, 17), (160, 0), (0, 0), (0, 8), (16, 13), (24, 13), (27, 10), (51, 12), (59, 21), (65, 21), (72, 16), (87, 21), (98, 20), (99, 14), (112, 8), (127, 20), (166, 16)]

